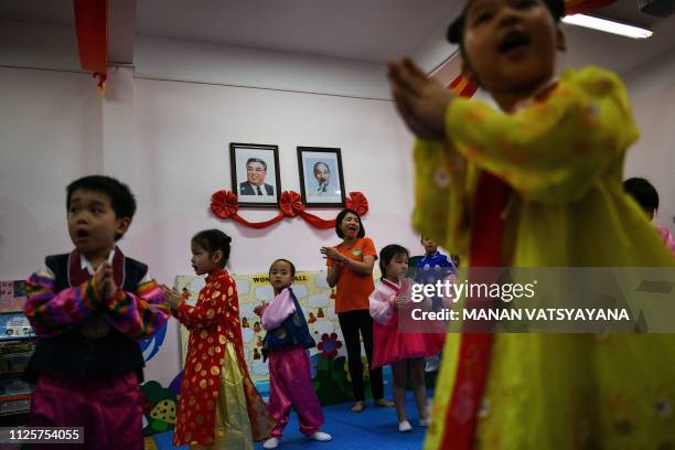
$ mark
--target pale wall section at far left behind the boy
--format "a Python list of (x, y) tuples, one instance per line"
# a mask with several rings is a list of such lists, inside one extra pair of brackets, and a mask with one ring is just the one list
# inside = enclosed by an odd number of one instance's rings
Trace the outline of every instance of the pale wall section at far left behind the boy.
[(0, 277), (71, 246), (65, 186), (103, 169), (100, 99), (87, 74), (0, 68)]

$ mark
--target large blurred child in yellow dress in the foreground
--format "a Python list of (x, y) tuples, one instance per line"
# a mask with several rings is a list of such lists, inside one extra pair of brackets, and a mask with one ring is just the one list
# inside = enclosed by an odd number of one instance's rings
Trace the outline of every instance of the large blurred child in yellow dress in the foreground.
[[(623, 192), (638, 139), (621, 81), (555, 78), (562, 0), (468, 0), (449, 31), (501, 111), (392, 62), (419, 138), (414, 224), (468, 267), (673, 267)], [(672, 299), (671, 299), (672, 300)], [(426, 449), (675, 444), (671, 334), (449, 334)]]

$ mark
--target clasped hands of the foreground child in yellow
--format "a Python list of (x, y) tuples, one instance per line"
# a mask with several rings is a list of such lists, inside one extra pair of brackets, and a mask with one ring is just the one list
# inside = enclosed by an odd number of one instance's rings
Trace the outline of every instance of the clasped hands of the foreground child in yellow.
[(422, 139), (443, 139), (446, 110), (454, 93), (429, 78), (408, 57), (389, 61), (388, 77), (398, 114), (410, 131)]

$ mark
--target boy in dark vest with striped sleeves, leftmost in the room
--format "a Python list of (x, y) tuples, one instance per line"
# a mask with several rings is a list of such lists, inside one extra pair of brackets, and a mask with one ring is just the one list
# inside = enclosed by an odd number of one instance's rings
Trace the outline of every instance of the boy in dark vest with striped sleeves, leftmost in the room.
[(129, 188), (92, 175), (66, 190), (75, 249), (45, 258), (26, 283), (38, 335), (25, 377), (35, 383), (31, 427), (84, 427), (87, 449), (143, 448), (143, 355), (169, 308), (148, 266), (117, 247), (136, 212)]

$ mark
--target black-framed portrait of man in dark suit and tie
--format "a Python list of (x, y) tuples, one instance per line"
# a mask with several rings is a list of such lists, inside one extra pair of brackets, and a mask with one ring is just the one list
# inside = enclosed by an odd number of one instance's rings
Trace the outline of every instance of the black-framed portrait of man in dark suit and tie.
[(239, 206), (277, 207), (281, 191), (278, 146), (232, 142), (229, 163), (232, 192)]

